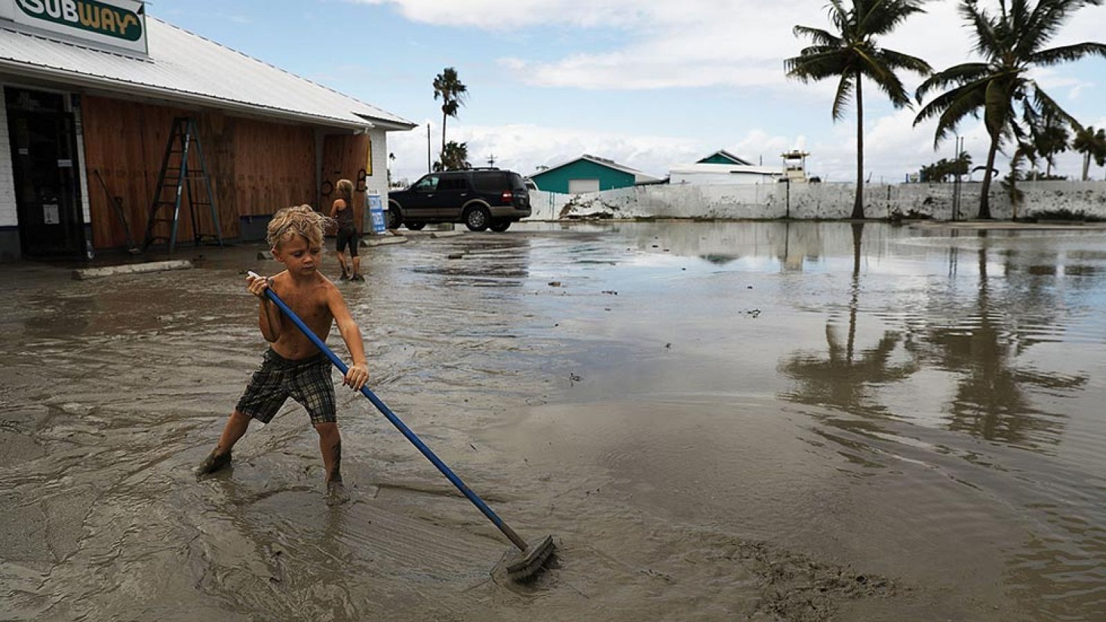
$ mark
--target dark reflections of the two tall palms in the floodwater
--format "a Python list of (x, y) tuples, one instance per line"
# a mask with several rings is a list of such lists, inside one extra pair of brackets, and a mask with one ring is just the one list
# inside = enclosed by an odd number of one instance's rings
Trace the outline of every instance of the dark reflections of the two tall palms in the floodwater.
[[(962, 320), (946, 324), (935, 322), (936, 318), (932, 318), (924, 321), (924, 328), (919, 328), (917, 322), (908, 323), (902, 330), (886, 331), (875, 346), (856, 355), (864, 225), (853, 224), (851, 227), (853, 270), (847, 335), (843, 340), (835, 323), (827, 321), (825, 356), (804, 350), (786, 359), (780, 370), (794, 379), (797, 386), (784, 396), (857, 415), (895, 415), (877, 400), (876, 388), (904, 381), (926, 365), (957, 374), (954, 394), (945, 406), (950, 431), (1026, 448), (1040, 449), (1041, 443), (1058, 443), (1064, 416), (1034, 406), (1026, 392), (1030, 387), (1053, 392), (1081, 390), (1087, 383), (1087, 375), (1041, 372), (1016, 364), (1016, 357), (1035, 340), (1032, 336), (1019, 339), (1016, 331), (1009, 328), (1009, 320), (1002, 311), (1008, 308), (1008, 301), (993, 300), (987, 245), (981, 243), (975, 250), (978, 287), (971, 292), (973, 304), (967, 313), (962, 313)], [(985, 242), (985, 238), (984, 231), (980, 241)], [(1009, 249), (1003, 252), (1008, 260), (1008, 273), (1011, 270), (1010, 260), (1015, 255), (1016, 251)], [(950, 279), (959, 278), (958, 257), (959, 249), (950, 248)], [(1033, 258), (1033, 261), (1037, 262), (1040, 258)], [(1055, 273), (1054, 267), (1051, 272)], [(1041, 274), (1042, 270), (1037, 268), (1030, 273)], [(1027, 291), (1019, 292), (1021, 304), (1024, 308), (1026, 300), (1037, 301), (1037, 307), (1055, 302), (1046, 291), (1046, 288), (1035, 283)], [(938, 302), (938, 309), (943, 304)], [(1036, 330), (1041, 331), (1040, 322)], [(907, 362), (893, 363), (899, 343), (907, 354)]]

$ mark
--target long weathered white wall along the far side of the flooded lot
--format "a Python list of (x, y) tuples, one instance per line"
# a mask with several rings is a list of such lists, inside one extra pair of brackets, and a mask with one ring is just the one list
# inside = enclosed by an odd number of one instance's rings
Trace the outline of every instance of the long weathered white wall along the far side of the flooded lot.
[[(531, 193), (533, 220), (602, 215), (611, 218), (848, 218), (854, 184), (758, 184), (733, 186), (657, 185), (619, 188), (584, 195)], [(1018, 216), (1067, 209), (1106, 218), (1106, 182), (1023, 182)], [(974, 218), (980, 184), (963, 184), (958, 218)], [(990, 190), (991, 216), (1011, 218), (1005, 190), (995, 183)], [(865, 216), (887, 218), (895, 212), (952, 217), (951, 184), (868, 184)]]

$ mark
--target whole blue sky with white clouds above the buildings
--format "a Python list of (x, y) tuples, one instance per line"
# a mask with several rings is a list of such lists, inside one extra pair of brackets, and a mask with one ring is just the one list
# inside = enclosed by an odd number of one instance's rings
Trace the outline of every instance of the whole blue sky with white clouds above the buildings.
[[(985, 4), (987, 0), (983, 0)], [(523, 174), (581, 154), (664, 177), (724, 148), (765, 165), (803, 148), (823, 179), (855, 179), (855, 107), (833, 123), (835, 84), (802, 84), (783, 59), (805, 44), (795, 24), (830, 29), (825, 0), (158, 0), (150, 14), (419, 123), (389, 134), (395, 177), (426, 173), (427, 124), (440, 143), (431, 82), (456, 68), (469, 97), (448, 138), (470, 160)], [(973, 60), (952, 0), (880, 43), (935, 69)], [(1054, 45), (1106, 41), (1106, 7), (1074, 15)], [(1106, 59), (1040, 72), (1036, 80), (1084, 124), (1106, 126)], [(919, 80), (904, 75), (912, 92)], [(933, 151), (932, 124), (912, 125), (865, 89), (866, 173), (901, 180), (953, 155)], [(981, 123), (960, 128), (979, 164)], [(437, 146), (434, 147), (437, 157)], [(1064, 154), (1058, 172), (1079, 173)], [(1103, 170), (1097, 168), (1100, 177)]]

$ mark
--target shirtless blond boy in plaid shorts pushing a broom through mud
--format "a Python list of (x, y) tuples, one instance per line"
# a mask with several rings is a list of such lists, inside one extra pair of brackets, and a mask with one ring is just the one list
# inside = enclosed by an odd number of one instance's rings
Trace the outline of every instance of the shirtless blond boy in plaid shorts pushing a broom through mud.
[(269, 279), (247, 277), (246, 287), (261, 299), (258, 324), (271, 345), (227, 419), (219, 444), (196, 469), (197, 475), (215, 473), (229, 465), (230, 450), (246, 434), (250, 419), (269, 423), (284, 401), (292, 397), (306, 408), (319, 433), (319, 448), (326, 471), (327, 505), (346, 500), (342, 486), (342, 437), (338, 435), (331, 362), (265, 298), (265, 289), (273, 288), (323, 341), (326, 341), (331, 325), (336, 322), (354, 363), (343, 384), (361, 391), (368, 381), (361, 331), (349, 315), (342, 293), (320, 271), (325, 221), (325, 216), (306, 205), (284, 208), (270, 221), (267, 239), (273, 258), (286, 269)]

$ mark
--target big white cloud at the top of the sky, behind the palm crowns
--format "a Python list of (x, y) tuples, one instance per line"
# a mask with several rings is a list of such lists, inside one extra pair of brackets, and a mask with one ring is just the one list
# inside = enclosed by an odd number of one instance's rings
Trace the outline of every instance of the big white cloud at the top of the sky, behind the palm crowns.
[[(783, 59), (807, 44), (795, 24), (832, 30), (824, 0), (352, 0), (395, 6), (410, 20), (444, 27), (510, 31), (524, 27), (620, 30), (629, 43), (553, 61), (502, 59), (529, 84), (581, 89), (780, 86)], [(972, 40), (952, 1), (928, 2), (880, 41), (920, 56), (936, 70), (964, 62)], [(1053, 44), (1100, 38), (1106, 7), (1081, 10)], [(1098, 24), (1098, 25), (1094, 25)], [(586, 41), (587, 30), (580, 32)], [(908, 86), (917, 83), (904, 76)]]

